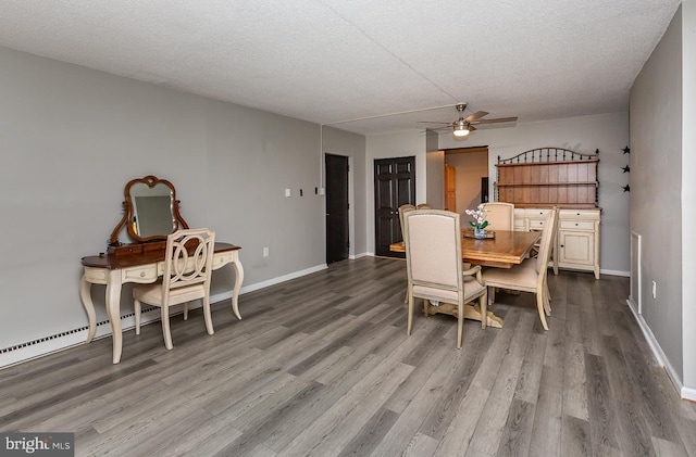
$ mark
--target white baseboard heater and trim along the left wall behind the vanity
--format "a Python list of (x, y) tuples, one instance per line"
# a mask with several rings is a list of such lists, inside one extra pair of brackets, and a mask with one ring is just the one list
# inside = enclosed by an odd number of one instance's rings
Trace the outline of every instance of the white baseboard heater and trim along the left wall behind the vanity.
[[(269, 279), (266, 281), (257, 282), (256, 284), (243, 285), (239, 290), (239, 295), (248, 292), (253, 292), (260, 289), (264, 289), (271, 285), (279, 284), (281, 282), (289, 281), (290, 279), (300, 278), (312, 272), (326, 269), (326, 264), (316, 265), (311, 268), (295, 271), (289, 275), (279, 276), (277, 278)], [(211, 303), (222, 302), (224, 300), (232, 299), (232, 291), (213, 294), (210, 296)], [(200, 307), (200, 302), (189, 306), (189, 309)], [(173, 313), (174, 315), (176, 313)], [(244, 316), (244, 309), (241, 310)], [(154, 320), (160, 320), (159, 309), (153, 309), (142, 314), (142, 325), (147, 325)], [(135, 328), (135, 316), (132, 314), (121, 317), (121, 328), (123, 331)], [(97, 322), (97, 332), (95, 339), (105, 338), (111, 335), (111, 326), (108, 320)], [(71, 329), (46, 338), (37, 339), (35, 341), (22, 343), (1, 350), (0, 352), (0, 369), (10, 367), (12, 365), (21, 364), (34, 358), (42, 357), (49, 354), (57, 353), (59, 351), (74, 347), (79, 344), (85, 344), (87, 339), (87, 326), (78, 329)], [(108, 354), (111, 358), (111, 353)]]

